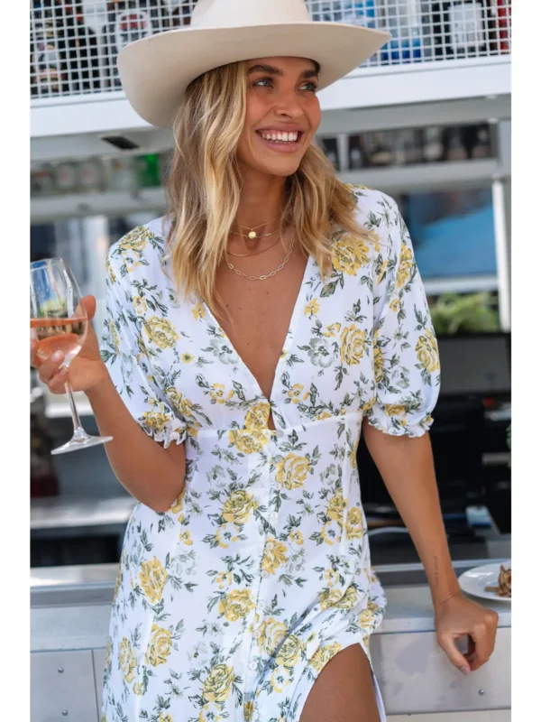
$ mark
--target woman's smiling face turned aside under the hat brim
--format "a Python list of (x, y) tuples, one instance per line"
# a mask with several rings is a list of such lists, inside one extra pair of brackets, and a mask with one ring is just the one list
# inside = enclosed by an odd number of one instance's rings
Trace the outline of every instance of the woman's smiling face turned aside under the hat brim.
[(246, 120), (237, 148), (242, 170), (286, 177), (321, 122), (317, 66), (303, 58), (249, 60)]

